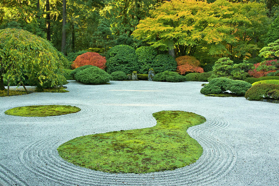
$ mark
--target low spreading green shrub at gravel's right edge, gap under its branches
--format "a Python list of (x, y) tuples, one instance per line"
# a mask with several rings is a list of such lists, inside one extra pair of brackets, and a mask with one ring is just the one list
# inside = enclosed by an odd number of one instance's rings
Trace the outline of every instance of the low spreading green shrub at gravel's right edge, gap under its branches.
[(229, 78), (214, 78), (205, 87), (201, 88), (201, 93), (220, 94), (225, 91), (231, 91), (237, 95), (245, 95), (245, 92), (252, 85), (241, 80), (232, 80)]

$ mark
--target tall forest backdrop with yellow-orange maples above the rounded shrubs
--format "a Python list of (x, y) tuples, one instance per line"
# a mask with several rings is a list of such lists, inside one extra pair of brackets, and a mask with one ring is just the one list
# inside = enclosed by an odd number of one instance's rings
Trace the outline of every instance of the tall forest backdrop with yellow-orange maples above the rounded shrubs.
[(1, 0), (0, 29), (27, 30), (68, 56), (83, 50), (105, 55), (119, 44), (152, 45), (159, 53), (195, 56), (202, 66), (220, 57), (255, 64), (262, 61), (259, 50), (278, 39), (272, 31), (279, 24), (278, 0), (165, 2)]

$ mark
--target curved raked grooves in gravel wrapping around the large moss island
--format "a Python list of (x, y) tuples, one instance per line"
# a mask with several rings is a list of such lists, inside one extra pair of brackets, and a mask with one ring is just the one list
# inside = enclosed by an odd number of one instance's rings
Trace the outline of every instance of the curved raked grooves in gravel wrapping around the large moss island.
[[(61, 141), (67, 141), (68, 139), (57, 137), (57, 135), (48, 136), (26, 146), (20, 155), (20, 161), (34, 174), (69, 186), (73, 184), (121, 185), (123, 182), (125, 182), (125, 185), (143, 183), (152, 183), (153, 185), (167, 185), (166, 183), (170, 183), (170, 185), (209, 184), (221, 179), (223, 174), (232, 169), (236, 161), (236, 153), (233, 149), (223, 140), (213, 135), (216, 131), (223, 130), (228, 126), (228, 122), (209, 120), (203, 124), (190, 127), (187, 131), (188, 134), (201, 144), (204, 152), (196, 163), (172, 171), (140, 175), (110, 174), (75, 166), (64, 161), (58, 155), (56, 148), (63, 143)], [(30, 166), (31, 164), (27, 164), (27, 162), (35, 164)], [(42, 167), (45, 164), (47, 166)]]

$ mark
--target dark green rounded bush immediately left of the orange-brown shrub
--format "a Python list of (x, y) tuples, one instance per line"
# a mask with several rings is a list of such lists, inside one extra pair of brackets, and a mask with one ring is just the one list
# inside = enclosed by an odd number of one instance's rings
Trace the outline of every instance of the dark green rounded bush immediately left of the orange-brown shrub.
[(175, 71), (177, 63), (171, 55), (159, 54), (157, 55), (152, 64), (151, 68), (155, 73), (162, 73), (164, 71)]

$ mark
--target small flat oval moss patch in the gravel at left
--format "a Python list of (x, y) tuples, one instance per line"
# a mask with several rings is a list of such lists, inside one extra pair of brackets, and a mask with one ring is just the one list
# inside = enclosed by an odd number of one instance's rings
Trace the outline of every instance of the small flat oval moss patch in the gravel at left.
[(80, 108), (70, 105), (33, 105), (11, 108), (6, 110), (5, 114), (23, 117), (46, 117), (76, 113), (78, 111), (80, 111)]

